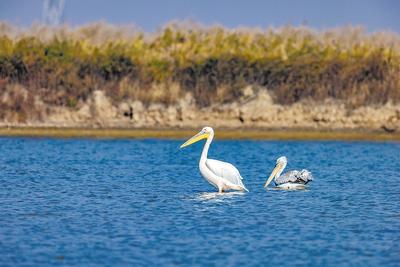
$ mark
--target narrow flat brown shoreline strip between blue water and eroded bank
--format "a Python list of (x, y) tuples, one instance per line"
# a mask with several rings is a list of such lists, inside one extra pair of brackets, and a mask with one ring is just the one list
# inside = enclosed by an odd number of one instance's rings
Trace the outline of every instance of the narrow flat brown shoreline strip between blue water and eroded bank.
[[(51, 137), (100, 139), (185, 139), (199, 129), (171, 128), (56, 128), (56, 127), (0, 127), (0, 137)], [(368, 130), (315, 129), (256, 129), (239, 128), (216, 130), (222, 140), (317, 140), (317, 141), (400, 141), (400, 133)]]

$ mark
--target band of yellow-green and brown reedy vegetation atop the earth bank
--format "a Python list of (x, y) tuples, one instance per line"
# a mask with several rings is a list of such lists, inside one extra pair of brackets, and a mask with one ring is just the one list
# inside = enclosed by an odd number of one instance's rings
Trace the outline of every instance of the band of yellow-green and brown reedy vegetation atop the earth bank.
[(266, 88), (281, 104), (327, 98), (384, 104), (400, 101), (400, 36), (351, 27), (178, 23), (145, 33), (105, 23), (29, 29), (0, 23), (1, 94), (15, 84), (28, 99), (70, 107), (99, 89), (115, 101), (166, 104), (191, 92), (207, 106), (234, 101), (248, 85)]

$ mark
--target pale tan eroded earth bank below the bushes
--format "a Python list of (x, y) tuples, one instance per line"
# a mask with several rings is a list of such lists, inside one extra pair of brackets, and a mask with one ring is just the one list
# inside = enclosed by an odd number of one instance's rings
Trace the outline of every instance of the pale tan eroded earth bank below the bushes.
[(8, 114), (0, 127), (84, 127), (84, 128), (200, 128), (303, 129), (400, 131), (400, 105), (385, 104), (350, 109), (334, 100), (323, 103), (301, 101), (292, 105), (274, 103), (267, 90), (255, 93), (245, 88), (234, 103), (198, 108), (186, 94), (177, 104), (143, 105), (139, 101), (113, 103), (103, 91), (94, 91), (86, 102), (74, 108), (48, 106), (30, 100), (39, 115), (21, 121)]

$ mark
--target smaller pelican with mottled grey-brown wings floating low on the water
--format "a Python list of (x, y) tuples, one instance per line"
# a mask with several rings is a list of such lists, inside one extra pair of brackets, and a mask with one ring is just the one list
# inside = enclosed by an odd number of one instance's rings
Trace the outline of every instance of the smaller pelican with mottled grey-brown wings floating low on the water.
[(271, 175), (264, 185), (264, 188), (267, 188), (273, 178), (275, 178), (274, 182), (276, 187), (284, 189), (305, 188), (305, 185), (313, 180), (311, 172), (304, 169), (301, 171), (288, 171), (281, 176), (281, 173), (285, 169), (286, 164), (286, 157), (280, 157), (276, 160), (275, 168), (272, 170)]

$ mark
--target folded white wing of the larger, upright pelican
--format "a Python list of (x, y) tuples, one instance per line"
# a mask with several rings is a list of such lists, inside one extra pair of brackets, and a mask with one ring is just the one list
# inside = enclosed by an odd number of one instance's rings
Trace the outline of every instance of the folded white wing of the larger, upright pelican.
[(215, 175), (222, 177), (235, 185), (244, 187), (242, 183), (243, 178), (240, 176), (239, 170), (232, 164), (215, 159), (207, 159), (206, 165)]

